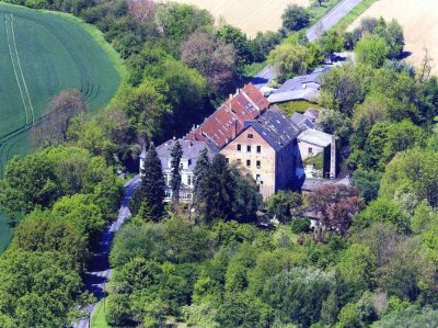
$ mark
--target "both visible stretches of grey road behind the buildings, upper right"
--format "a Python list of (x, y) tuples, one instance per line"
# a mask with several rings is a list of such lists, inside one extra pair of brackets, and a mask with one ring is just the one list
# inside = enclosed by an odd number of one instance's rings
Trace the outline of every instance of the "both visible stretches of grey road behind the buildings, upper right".
[[(327, 12), (320, 21), (311, 26), (306, 36), (310, 42), (313, 42), (322, 33), (326, 32), (338, 23), (353, 8), (355, 8), (361, 0), (342, 0), (330, 12)], [(277, 77), (276, 72), (270, 66), (266, 66), (258, 75), (252, 79), (252, 83), (262, 89), (266, 87), (272, 80)]]

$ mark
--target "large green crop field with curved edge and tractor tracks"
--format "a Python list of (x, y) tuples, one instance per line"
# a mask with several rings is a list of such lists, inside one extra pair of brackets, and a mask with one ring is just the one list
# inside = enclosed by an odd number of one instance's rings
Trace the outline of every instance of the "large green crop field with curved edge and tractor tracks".
[[(71, 15), (0, 3), (0, 177), (61, 90), (79, 89), (90, 110), (108, 103), (123, 65), (102, 34)], [(0, 251), (9, 242), (0, 213)]]

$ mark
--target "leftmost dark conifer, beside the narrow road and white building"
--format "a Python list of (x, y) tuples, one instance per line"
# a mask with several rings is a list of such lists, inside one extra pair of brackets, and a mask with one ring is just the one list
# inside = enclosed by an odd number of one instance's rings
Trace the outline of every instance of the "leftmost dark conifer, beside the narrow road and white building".
[(145, 159), (145, 167), (141, 168), (141, 213), (148, 213), (145, 218), (159, 220), (164, 213), (164, 177), (161, 161), (153, 144), (151, 144)]

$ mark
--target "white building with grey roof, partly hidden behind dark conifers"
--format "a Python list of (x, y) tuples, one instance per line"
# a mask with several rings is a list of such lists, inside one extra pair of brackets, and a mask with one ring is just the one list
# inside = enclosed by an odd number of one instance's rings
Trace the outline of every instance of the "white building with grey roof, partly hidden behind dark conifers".
[[(205, 142), (193, 142), (187, 139), (178, 139), (181, 147), (183, 148), (183, 157), (181, 159), (181, 189), (180, 189), (180, 200), (182, 202), (191, 202), (193, 200), (193, 189), (194, 189), (194, 169), (196, 161), (200, 152), (207, 148), (209, 157), (212, 156), (211, 149), (207, 146)], [(163, 168), (163, 176), (165, 181), (165, 199), (164, 202), (170, 202), (172, 200), (172, 148), (175, 145), (176, 139), (171, 139), (164, 144), (157, 147), (157, 154), (160, 158), (161, 166)], [(140, 155), (140, 168), (145, 166), (145, 158), (147, 151), (143, 150)]]

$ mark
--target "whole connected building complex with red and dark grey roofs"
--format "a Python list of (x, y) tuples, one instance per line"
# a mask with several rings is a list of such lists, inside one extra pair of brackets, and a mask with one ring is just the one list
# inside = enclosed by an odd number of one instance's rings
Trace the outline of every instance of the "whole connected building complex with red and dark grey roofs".
[[(238, 165), (251, 174), (264, 199), (278, 190), (300, 190), (307, 178), (336, 177), (336, 151), (333, 136), (315, 128), (319, 112), (309, 109), (287, 117), (253, 84), (230, 95), (203, 124), (180, 139), (183, 147), (181, 200), (193, 199), (193, 172), (197, 157), (204, 148), (209, 156), (224, 155), (230, 163)], [(166, 201), (172, 199), (171, 150), (175, 139), (157, 148), (166, 181)], [(306, 160), (321, 157), (316, 168)], [(146, 151), (140, 156), (141, 167)]]

